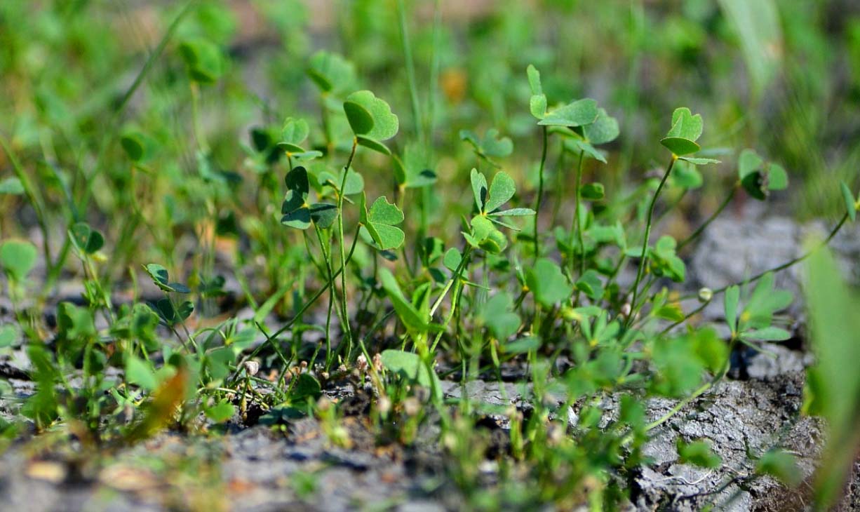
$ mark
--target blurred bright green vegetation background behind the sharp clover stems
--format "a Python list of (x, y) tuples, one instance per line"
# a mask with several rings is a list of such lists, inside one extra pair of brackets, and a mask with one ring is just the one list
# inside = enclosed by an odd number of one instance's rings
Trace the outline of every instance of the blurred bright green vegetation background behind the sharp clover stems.
[[(224, 176), (249, 175), (250, 126), (279, 127), (287, 115), (304, 115), (318, 145), (321, 107), (305, 74), (318, 50), (352, 61), (356, 87), (392, 104), (402, 126), (396, 150), (415, 138), (397, 3), (200, 0), (112, 124), (112, 107), (184, 3), (3, 2), (0, 134), (34, 165), (49, 206), (65, 202), (66, 215), (92, 219), (114, 215), (135, 176), (119, 145), (103, 144), (105, 130), (141, 130), (158, 151), (146, 190), (134, 194), (187, 201), (164, 213), (181, 223), (194, 215), (196, 197), (191, 110), (200, 108), (210, 162)], [(703, 114), (703, 149), (724, 161), (706, 173), (703, 194), (682, 205), (688, 210), (716, 206), (743, 147), (783, 163), (792, 180), (783, 209), (804, 219), (839, 213), (836, 183), (856, 178), (860, 3), (426, 0), (402, 7), (442, 182), (460, 180), (474, 164), (459, 131), (492, 127), (514, 142), (503, 167), (533, 186), (540, 139), (527, 108), (529, 64), (542, 71), (550, 103), (590, 96), (618, 118), (622, 135), (608, 148), (609, 165), (588, 170), (610, 191), (633, 187), (662, 163), (657, 141), (678, 106)], [(223, 72), (199, 91), (198, 106), (178, 46), (199, 38), (218, 48)], [(104, 172), (92, 172), (96, 163), (105, 163)], [(0, 170), (9, 176), (4, 154)], [(75, 211), (88, 180), (95, 201)], [(0, 207), (16, 211), (19, 201), (3, 196)], [(4, 215), (3, 235), (18, 231), (19, 220)]]

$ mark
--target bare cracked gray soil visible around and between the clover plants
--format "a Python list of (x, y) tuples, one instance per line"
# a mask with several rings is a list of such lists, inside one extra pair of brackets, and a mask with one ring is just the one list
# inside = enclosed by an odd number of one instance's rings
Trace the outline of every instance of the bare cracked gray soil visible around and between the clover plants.
[[(689, 260), (691, 276), (696, 286), (715, 288), (741, 280), (796, 256), (799, 241), (811, 229), (821, 228), (785, 219), (717, 222)], [(851, 262), (860, 261), (856, 234), (835, 240), (849, 273), (857, 269)], [(797, 274), (786, 273), (777, 283), (797, 291)], [(710, 309), (705, 318), (720, 314), (719, 308)], [(801, 318), (802, 306), (791, 314)], [(823, 444), (820, 420), (799, 413), (804, 368), (813, 358), (802, 342), (763, 348), (766, 353), (740, 358), (742, 368), (731, 373), (732, 379), (654, 430), (646, 448), (652, 462), (633, 478), (630, 509), (808, 509), (810, 478)], [(32, 383), (15, 373), (26, 364), (14, 356), (0, 361), (0, 373), (20, 396), (32, 392)], [(449, 382), (444, 389), (449, 397), (464, 392)], [(465, 390), (490, 404), (513, 404), (520, 391), (482, 381)], [(660, 417), (676, 403), (650, 399), (648, 415)], [(602, 406), (607, 416), (617, 408), (612, 397)], [(14, 400), (0, 398), (0, 415), (8, 418), (14, 407)], [(575, 408), (568, 411), (576, 413)], [(164, 433), (134, 447), (117, 447), (100, 459), (84, 457), (86, 447), (70, 446), (50, 434), (15, 441), (0, 455), (0, 509), (458, 509), (456, 494), (441, 478), (444, 467), (431, 435), (417, 448), (378, 447), (362, 416), (347, 416), (345, 426), (353, 440), (349, 449), (333, 446), (313, 418), (292, 423), (286, 431), (234, 425), (225, 435)], [(500, 430), (504, 435), (504, 424)], [(679, 463), (678, 438), (710, 440), (722, 465), (705, 470)], [(759, 455), (777, 446), (798, 457), (803, 483), (796, 489), (771, 478), (753, 478), (748, 453)], [(482, 471), (492, 473), (494, 467)], [(860, 466), (855, 466), (838, 508), (860, 509)]]

